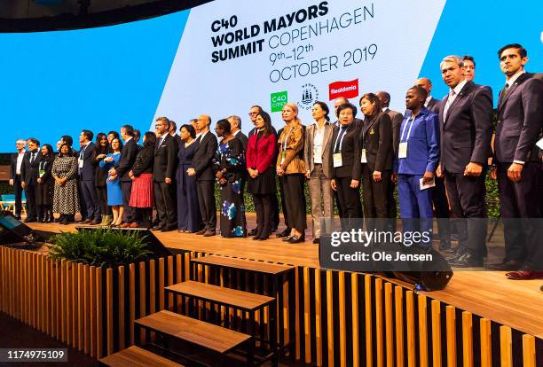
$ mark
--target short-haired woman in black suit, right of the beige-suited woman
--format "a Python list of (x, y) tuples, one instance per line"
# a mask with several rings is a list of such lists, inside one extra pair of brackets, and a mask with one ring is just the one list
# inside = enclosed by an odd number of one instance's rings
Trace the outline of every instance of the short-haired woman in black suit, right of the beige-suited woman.
[[(337, 191), (342, 230), (361, 228), (360, 205), (360, 129), (355, 125), (357, 107), (346, 103), (337, 108), (339, 127), (334, 127), (329, 163), (332, 174), (330, 184)], [(359, 221), (357, 221), (357, 219)]]

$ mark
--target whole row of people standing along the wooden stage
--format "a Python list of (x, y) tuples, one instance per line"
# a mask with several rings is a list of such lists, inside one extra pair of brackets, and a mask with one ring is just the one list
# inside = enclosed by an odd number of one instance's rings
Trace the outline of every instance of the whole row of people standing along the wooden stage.
[[(432, 98), (431, 82), (421, 78), (406, 91), (405, 113), (391, 111), (389, 93), (380, 91), (364, 94), (358, 106), (346, 98), (334, 100), (334, 122), (327, 104), (316, 101), (308, 126), (300, 121), (297, 105), (287, 103), (279, 131), (270, 114), (253, 105), (248, 116), (254, 128), (247, 137), (235, 115), (217, 121), (215, 134), (206, 114), (181, 126), (179, 134), (174, 121), (159, 117), (142, 146), (130, 125), (122, 126), (120, 137), (98, 134), (95, 144), (92, 132), (83, 130), (79, 152), (63, 137), (56, 157), (51, 145), (37, 152), (39, 142), (28, 139), (24, 152), (24, 142), (18, 141), (13, 175), (24, 182), (27, 221), (36, 215), (51, 220), (52, 211), (67, 223), (83, 197), (83, 223), (143, 225), (205, 237), (216, 234), (217, 183), (220, 234), (254, 240), (269, 238), (278, 228), (279, 186), (287, 228), (277, 236), (291, 244), (305, 240), (305, 183), (314, 243), (334, 230), (334, 202), (342, 230), (361, 228), (364, 217), (368, 230), (395, 229), (390, 219), (397, 217), (397, 187), (402, 219), (420, 218), (422, 229), (431, 230), (436, 217), (447, 260), (458, 267), (482, 266), (489, 168), (498, 180), (504, 218), (541, 215), (541, 150), (536, 143), (542, 137), (543, 82), (525, 73), (527, 52), (520, 44), (504, 46), (499, 58), (507, 83), (500, 91), (493, 144), (492, 90), (471, 81), (473, 58), (449, 56), (440, 64), (448, 95)], [(357, 118), (358, 108), (363, 119)], [(253, 230), (247, 229), (245, 191), (255, 204)], [(152, 225), (153, 207), (157, 215)], [(543, 276), (538, 230), (515, 223), (506, 225), (505, 232), (506, 259), (490, 268), (511, 270), (512, 278)], [(459, 243), (454, 248), (452, 237)]]

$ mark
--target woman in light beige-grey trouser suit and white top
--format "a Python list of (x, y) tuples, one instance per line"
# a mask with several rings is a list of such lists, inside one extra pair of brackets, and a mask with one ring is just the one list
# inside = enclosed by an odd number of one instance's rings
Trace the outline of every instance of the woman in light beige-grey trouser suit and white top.
[(332, 175), (329, 165), (334, 125), (330, 124), (328, 113), (330, 110), (326, 103), (315, 102), (311, 113), (315, 123), (305, 129), (303, 144), (305, 178), (309, 180), (311, 196), (314, 244), (319, 243), (322, 224), (326, 225), (324, 230), (329, 232), (332, 230), (334, 219), (334, 196), (330, 186)]

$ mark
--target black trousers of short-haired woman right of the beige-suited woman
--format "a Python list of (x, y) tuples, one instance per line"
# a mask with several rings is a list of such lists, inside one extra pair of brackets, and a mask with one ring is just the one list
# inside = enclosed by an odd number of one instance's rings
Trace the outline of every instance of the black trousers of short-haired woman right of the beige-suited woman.
[(337, 200), (342, 211), (340, 218), (342, 219), (342, 230), (350, 230), (353, 228), (362, 228), (362, 205), (360, 204), (360, 189), (350, 187), (350, 177), (336, 177), (335, 183), (337, 186)]

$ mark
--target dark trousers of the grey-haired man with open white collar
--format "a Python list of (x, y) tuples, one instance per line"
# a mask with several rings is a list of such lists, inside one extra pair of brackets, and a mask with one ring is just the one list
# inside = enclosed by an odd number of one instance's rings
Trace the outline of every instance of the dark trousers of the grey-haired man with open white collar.
[(484, 169), (480, 176), (445, 172), (445, 185), (451, 204), (452, 223), (459, 234), (459, 245), (475, 256), (486, 255), (486, 189)]

